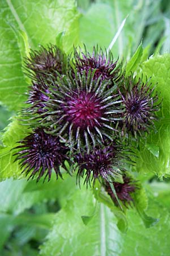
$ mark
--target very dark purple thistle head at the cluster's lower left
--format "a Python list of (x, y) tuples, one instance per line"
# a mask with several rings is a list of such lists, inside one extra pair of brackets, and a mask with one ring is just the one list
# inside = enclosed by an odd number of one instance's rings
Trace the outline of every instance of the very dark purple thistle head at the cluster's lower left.
[[(45, 174), (45, 178), (48, 176), (48, 180), (52, 175), (52, 169), (58, 175), (62, 177), (59, 171), (59, 166), (63, 166), (63, 162), (67, 159), (67, 148), (63, 143), (59, 142), (58, 138), (46, 134), (41, 128), (33, 131), (20, 141), (20, 151), (14, 155), (17, 155), (15, 160), (20, 161), (20, 166), (23, 172), (26, 172), (26, 176), (31, 173), (28, 179), (37, 176), (37, 181)], [(45, 180), (44, 178), (44, 180)]]

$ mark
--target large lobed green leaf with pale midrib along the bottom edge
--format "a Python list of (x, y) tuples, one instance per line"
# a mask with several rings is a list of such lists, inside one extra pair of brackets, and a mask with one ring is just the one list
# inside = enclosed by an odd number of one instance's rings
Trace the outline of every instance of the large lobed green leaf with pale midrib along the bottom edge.
[(129, 209), (126, 234), (118, 230), (116, 217), (104, 204), (97, 206), (95, 215), (84, 225), (81, 216), (94, 213), (93, 201), (91, 191), (83, 188), (75, 192), (66, 207), (56, 214), (52, 231), (41, 247), (40, 255), (168, 255), (169, 213), (154, 198), (151, 197), (147, 214), (154, 214), (160, 222), (146, 229), (135, 210)]

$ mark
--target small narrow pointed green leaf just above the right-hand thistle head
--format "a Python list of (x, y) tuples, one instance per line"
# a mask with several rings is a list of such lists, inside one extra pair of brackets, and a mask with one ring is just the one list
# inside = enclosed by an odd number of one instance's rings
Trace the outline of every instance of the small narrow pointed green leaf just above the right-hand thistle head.
[(134, 55), (131, 57), (130, 61), (128, 62), (128, 64), (126, 65), (126, 76), (129, 76), (130, 73), (134, 72), (143, 55), (143, 47), (142, 47), (142, 43), (138, 46), (137, 51), (134, 53)]

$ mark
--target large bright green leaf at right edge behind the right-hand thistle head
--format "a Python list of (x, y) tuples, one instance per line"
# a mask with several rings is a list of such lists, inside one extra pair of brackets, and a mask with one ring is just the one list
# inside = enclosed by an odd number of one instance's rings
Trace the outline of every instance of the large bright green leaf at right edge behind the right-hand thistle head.
[(170, 55), (151, 56), (141, 64), (143, 77), (151, 77), (150, 82), (156, 86), (162, 108), (158, 113), (156, 124), (158, 133), (152, 132), (147, 138), (147, 144), (141, 143), (137, 151), (137, 171), (154, 172), (160, 178), (170, 174)]

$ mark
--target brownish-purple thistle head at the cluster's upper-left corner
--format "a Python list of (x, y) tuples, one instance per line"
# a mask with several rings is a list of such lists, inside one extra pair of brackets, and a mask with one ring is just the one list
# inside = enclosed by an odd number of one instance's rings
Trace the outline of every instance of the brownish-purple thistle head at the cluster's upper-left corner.
[(66, 68), (66, 56), (57, 46), (50, 45), (48, 48), (40, 47), (39, 51), (31, 51), (25, 60), (28, 71), (36, 74), (36, 79), (52, 75), (57, 72), (62, 74)]

